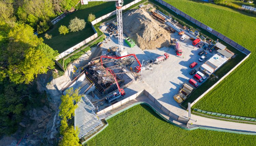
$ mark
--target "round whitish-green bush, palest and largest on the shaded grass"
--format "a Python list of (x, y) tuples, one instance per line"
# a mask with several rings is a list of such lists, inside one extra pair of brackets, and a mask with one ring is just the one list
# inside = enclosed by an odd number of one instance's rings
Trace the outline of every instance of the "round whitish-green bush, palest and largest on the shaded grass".
[(70, 20), (69, 22), (69, 29), (71, 32), (78, 32), (85, 28), (86, 22), (84, 19), (79, 19), (75, 17), (74, 19)]

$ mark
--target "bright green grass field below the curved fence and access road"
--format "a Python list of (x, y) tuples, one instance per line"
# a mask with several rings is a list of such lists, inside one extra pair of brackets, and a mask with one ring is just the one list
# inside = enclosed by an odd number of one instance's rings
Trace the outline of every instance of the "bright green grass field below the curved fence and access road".
[(87, 146), (226, 146), (256, 142), (255, 135), (181, 129), (164, 121), (146, 105), (134, 106), (110, 118), (108, 123)]

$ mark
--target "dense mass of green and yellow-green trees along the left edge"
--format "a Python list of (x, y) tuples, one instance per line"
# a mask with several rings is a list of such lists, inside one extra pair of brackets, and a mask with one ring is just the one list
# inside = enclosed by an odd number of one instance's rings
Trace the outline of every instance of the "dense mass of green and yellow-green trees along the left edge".
[(54, 68), (58, 55), (35, 30), (49, 29), (50, 19), (69, 10), (77, 0), (0, 1), (0, 136), (12, 134), (24, 112), (40, 105), (39, 74)]

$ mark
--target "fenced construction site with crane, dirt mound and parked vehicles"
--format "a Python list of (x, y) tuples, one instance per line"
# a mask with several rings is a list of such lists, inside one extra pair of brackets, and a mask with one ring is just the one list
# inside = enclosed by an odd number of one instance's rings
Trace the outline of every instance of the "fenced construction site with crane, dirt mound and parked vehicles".
[(79, 88), (84, 95), (75, 115), (75, 126), (82, 129), (79, 138), (87, 139), (104, 126), (102, 120), (111, 114), (104, 109), (142, 90), (185, 115), (180, 103), (234, 55), (218, 40), (182, 26), (152, 4), (139, 7), (123, 18), (121, 13), (121, 21), (99, 26), (105, 40), (83, 65), (74, 67), (80, 74), (62, 89), (65, 94)]

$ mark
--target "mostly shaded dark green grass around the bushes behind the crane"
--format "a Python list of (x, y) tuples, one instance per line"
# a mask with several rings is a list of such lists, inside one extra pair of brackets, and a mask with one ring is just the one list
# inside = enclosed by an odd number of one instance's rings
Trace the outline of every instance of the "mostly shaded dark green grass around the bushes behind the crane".
[[(132, 2), (133, 0), (124, 1), (124, 5)], [(87, 22), (87, 17), (90, 13), (94, 14), (96, 18), (106, 15), (114, 10), (115, 2), (88, 2), (87, 5), (79, 4), (77, 11), (68, 14), (65, 18), (61, 19), (59, 22), (54, 24), (53, 28), (47, 31), (47, 34), (52, 35), (52, 39), (45, 39), (44, 34), (39, 35), (39, 37), (44, 38), (44, 43), (48, 44), (54, 50), (58, 50), (59, 53), (66, 51), (67, 49), (73, 47), (77, 43), (85, 40), (86, 38), (92, 36), (95, 32), (89, 22)], [(59, 34), (60, 25), (65, 25), (68, 27), (69, 21), (73, 18), (85, 19), (86, 25), (82, 31), (79, 32), (69, 32), (66, 35)]]

